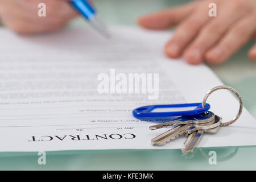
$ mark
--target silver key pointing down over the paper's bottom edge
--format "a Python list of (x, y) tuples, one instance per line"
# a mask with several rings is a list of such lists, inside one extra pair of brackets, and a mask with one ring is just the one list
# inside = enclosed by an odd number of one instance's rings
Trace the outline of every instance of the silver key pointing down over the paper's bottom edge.
[[(222, 118), (215, 115), (216, 123), (221, 123)], [(220, 125), (219, 125), (220, 126)], [(214, 133), (217, 132), (218, 127), (213, 127), (212, 129), (206, 129), (206, 130), (197, 130), (190, 135), (188, 135), (187, 140), (184, 143), (185, 148), (181, 149), (181, 151), (184, 154), (187, 154), (188, 152), (193, 152), (193, 150), (196, 148), (197, 144), (200, 142), (200, 139), (203, 137), (204, 133)]]

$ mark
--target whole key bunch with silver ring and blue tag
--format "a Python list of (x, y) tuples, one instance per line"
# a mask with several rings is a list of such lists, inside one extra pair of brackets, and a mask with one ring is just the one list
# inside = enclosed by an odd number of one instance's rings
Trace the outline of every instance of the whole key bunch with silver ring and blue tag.
[[(240, 100), (240, 109), (238, 114), (231, 121), (225, 123), (222, 123), (221, 117), (209, 111), (210, 105), (206, 103), (209, 95), (212, 92), (220, 89), (228, 89), (232, 91)], [(191, 107), (194, 109), (184, 110), (185, 108)], [(181, 135), (185, 135), (187, 140), (185, 140), (184, 148), (181, 149), (181, 151), (184, 154), (188, 154), (188, 152), (193, 152), (205, 133), (216, 133), (221, 126), (228, 126), (237, 121), (242, 113), (242, 108), (242, 99), (236, 90), (230, 88), (229, 86), (216, 86), (215, 88), (209, 90), (209, 92), (205, 95), (202, 103), (142, 106), (134, 109), (133, 115), (140, 119), (159, 119), (180, 116), (178, 118), (171, 119), (168, 122), (150, 126), (150, 130), (173, 126), (172, 129), (151, 139), (151, 143), (153, 145), (163, 145), (170, 140), (174, 140)], [(172, 111), (159, 112), (160, 109), (172, 109)]]

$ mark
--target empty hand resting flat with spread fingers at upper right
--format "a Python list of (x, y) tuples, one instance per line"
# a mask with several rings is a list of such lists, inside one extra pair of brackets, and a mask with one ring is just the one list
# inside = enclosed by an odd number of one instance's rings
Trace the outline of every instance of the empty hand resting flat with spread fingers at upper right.
[[(208, 14), (209, 4), (216, 3), (217, 16)], [(163, 30), (177, 24), (174, 36), (164, 48), (167, 56), (181, 55), (191, 64), (204, 60), (220, 64), (251, 38), (256, 40), (255, 0), (205, 0), (143, 16), (144, 28)], [(248, 53), (256, 60), (256, 44)]]

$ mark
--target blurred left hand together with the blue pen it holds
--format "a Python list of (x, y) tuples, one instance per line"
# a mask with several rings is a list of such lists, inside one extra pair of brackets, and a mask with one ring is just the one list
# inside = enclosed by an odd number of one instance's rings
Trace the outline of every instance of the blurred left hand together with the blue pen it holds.
[[(109, 33), (94, 7), (84, 0), (44, 0), (46, 17), (38, 16), (42, 0), (0, 0), (2, 23), (18, 34), (39, 34), (57, 31), (82, 14), (105, 37)], [(73, 6), (73, 7), (72, 7)]]

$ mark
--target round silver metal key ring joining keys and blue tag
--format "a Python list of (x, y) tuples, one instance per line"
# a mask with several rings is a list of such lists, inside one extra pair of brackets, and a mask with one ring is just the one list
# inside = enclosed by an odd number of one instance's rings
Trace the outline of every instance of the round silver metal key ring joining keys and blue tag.
[(230, 120), (229, 122), (225, 122), (225, 123), (221, 123), (220, 126), (229, 126), (231, 125), (232, 123), (234, 123), (235, 121), (237, 121), (237, 119), (240, 117), (241, 113), (242, 113), (242, 110), (243, 110), (243, 102), (242, 102), (242, 98), (240, 96), (240, 94), (238, 94), (238, 92), (231, 88), (230, 86), (216, 86), (214, 87), (213, 89), (210, 89), (207, 94), (204, 96), (204, 99), (203, 99), (203, 102), (202, 102), (202, 106), (204, 107), (205, 106), (205, 103), (207, 101), (207, 98), (210, 96), (211, 93), (213, 93), (214, 91), (216, 90), (221, 90), (221, 89), (226, 89), (226, 90), (230, 90), (231, 92), (233, 92), (234, 94), (236, 94), (236, 96), (238, 97), (239, 99), (239, 104), (240, 104), (240, 108), (238, 110), (238, 113), (236, 115), (236, 117), (234, 117), (232, 120)]

